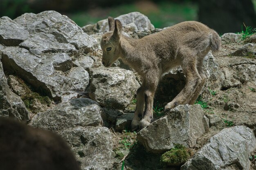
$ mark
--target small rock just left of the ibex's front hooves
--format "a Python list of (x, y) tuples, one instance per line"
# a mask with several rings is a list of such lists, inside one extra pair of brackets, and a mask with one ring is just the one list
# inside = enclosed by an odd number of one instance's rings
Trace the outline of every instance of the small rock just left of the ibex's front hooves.
[(116, 130), (125, 130), (130, 128), (134, 113), (124, 113), (116, 120)]

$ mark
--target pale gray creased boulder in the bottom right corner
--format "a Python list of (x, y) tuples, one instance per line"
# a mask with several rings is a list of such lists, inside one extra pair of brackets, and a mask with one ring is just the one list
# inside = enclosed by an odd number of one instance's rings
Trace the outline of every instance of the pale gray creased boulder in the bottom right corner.
[(211, 137), (181, 170), (231, 170), (234, 167), (249, 170), (249, 155), (255, 148), (252, 129), (246, 126), (225, 128)]

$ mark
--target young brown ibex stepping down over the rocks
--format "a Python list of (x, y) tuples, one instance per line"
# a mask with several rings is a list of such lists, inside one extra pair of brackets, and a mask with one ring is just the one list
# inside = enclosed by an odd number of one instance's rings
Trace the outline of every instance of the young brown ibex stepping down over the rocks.
[(102, 64), (109, 67), (121, 58), (142, 78), (131, 124), (133, 130), (144, 128), (153, 120), (153, 97), (159, 79), (175, 66), (182, 66), (186, 84), (165, 110), (179, 104), (194, 104), (206, 82), (202, 70), (204, 57), (210, 50), (220, 49), (221, 40), (214, 30), (200, 22), (187, 21), (135, 40), (122, 35), (119, 20), (109, 17), (108, 24), (109, 32), (101, 39)]

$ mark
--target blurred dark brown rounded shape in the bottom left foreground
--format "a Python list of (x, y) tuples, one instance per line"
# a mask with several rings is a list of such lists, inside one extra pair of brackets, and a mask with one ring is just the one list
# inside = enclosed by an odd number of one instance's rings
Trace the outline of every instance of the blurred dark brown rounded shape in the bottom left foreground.
[(0, 117), (0, 170), (80, 170), (58, 135)]

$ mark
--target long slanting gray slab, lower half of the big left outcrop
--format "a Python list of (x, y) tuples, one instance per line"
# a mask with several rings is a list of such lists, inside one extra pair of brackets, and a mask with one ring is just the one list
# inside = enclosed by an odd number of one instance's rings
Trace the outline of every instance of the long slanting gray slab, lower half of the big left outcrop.
[(1, 61), (5, 70), (17, 73), (56, 102), (76, 97), (89, 84), (89, 73), (81, 66), (74, 67), (66, 53), (37, 56), (27, 49), (6, 47), (2, 49)]

